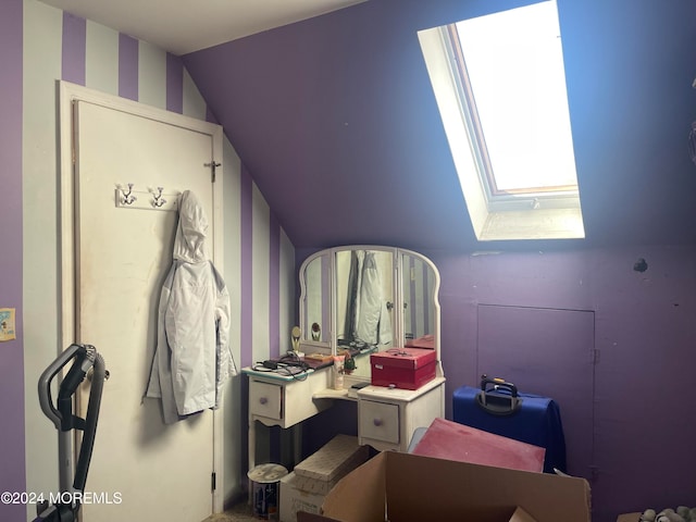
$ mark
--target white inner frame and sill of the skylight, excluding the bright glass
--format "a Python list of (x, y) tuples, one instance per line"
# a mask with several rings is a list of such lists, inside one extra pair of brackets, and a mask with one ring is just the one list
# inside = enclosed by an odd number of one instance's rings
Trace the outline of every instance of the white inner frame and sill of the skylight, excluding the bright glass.
[[(577, 185), (497, 187), (457, 30), (456, 23), (448, 24), (419, 32), (419, 39), (476, 237), (584, 237)], [(463, 141), (469, 158), (461, 151)]]

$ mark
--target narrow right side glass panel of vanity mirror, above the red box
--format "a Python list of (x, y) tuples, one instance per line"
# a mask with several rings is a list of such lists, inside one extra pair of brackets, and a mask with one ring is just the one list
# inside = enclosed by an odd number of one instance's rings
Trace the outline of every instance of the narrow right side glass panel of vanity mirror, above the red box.
[(422, 259), (408, 253), (402, 254), (401, 263), (403, 346), (435, 348), (435, 273)]

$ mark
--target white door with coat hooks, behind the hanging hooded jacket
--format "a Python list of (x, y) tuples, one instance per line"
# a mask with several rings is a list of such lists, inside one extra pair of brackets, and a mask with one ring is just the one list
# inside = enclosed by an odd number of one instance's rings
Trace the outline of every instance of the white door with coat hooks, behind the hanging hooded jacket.
[[(146, 192), (163, 187), (167, 207), (192, 190), (210, 221), (212, 256), (211, 136), (86, 101), (74, 117), (77, 339), (95, 345), (110, 373), (86, 490), (121, 497), (85, 505), (83, 520), (198, 522), (212, 512), (213, 413), (165, 425), (159, 400), (141, 400), (177, 223)], [(128, 183), (138, 199), (116, 207), (116, 185)]]

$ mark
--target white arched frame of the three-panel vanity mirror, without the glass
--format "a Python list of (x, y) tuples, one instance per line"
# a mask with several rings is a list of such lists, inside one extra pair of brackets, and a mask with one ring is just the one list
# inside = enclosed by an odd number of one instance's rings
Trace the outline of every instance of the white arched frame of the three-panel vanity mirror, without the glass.
[[(413, 250), (408, 250), (398, 247), (388, 247), (381, 245), (346, 245), (338, 246), (333, 248), (327, 248), (324, 250), (320, 250), (318, 252), (309, 256), (304, 261), (302, 261), (300, 269), (298, 271), (299, 284), (300, 284), (300, 298), (299, 298), (299, 324), (302, 330), (302, 336), (300, 339), (301, 351), (303, 352), (320, 352), (326, 355), (336, 355), (338, 350), (338, 339), (337, 339), (337, 270), (336, 270), (336, 254), (343, 251), (351, 251), (351, 250), (375, 250), (375, 251), (386, 251), (391, 253), (393, 256), (393, 298), (394, 298), (394, 307), (396, 310), (403, 310), (403, 257), (410, 256), (412, 258), (419, 259), (422, 261), (433, 273), (433, 287), (431, 289), (432, 297), (432, 306), (433, 306), (433, 343), (434, 349), (437, 353), (437, 360), (440, 360), (440, 307), (439, 307), (439, 272), (435, 264), (422, 253), (415, 252)], [(323, 302), (330, 303), (328, 310), (328, 325), (330, 332), (327, 334), (328, 340), (312, 340), (309, 337), (309, 332), (307, 332), (307, 306), (306, 300), (308, 298), (308, 287), (307, 287), (307, 269), (312, 263), (312, 261), (325, 257), (327, 260), (327, 271), (328, 276), (326, 277), (327, 288), (322, 288), (322, 291), (328, 293), (327, 299), (322, 298)], [(324, 311), (322, 311), (322, 315), (324, 315)], [(324, 328), (324, 326), (322, 326)], [(391, 325), (393, 330), (393, 338), (395, 339), (393, 346), (402, 347), (406, 344), (406, 332), (405, 332), (405, 320), (402, 313), (394, 314), (394, 324)], [(442, 364), (438, 362), (438, 376), (442, 376)], [(369, 377), (368, 377), (369, 378)]]

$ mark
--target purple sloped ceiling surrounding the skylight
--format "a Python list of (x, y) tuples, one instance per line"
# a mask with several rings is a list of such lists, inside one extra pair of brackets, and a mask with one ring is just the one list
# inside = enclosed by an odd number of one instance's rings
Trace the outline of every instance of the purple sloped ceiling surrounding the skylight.
[(696, 0), (558, 0), (587, 237), (475, 240), (417, 32), (525, 3), (369, 0), (182, 58), (296, 247), (696, 243)]

